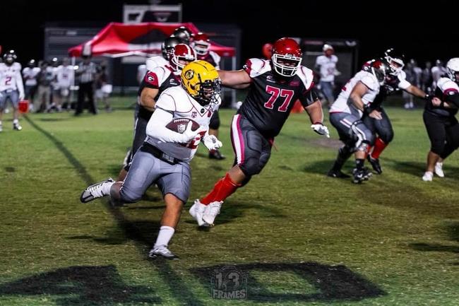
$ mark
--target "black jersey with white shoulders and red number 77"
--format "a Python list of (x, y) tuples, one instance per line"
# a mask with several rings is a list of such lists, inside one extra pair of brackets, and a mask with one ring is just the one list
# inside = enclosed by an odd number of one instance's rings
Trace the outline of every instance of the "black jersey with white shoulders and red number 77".
[(270, 61), (264, 59), (249, 59), (244, 70), (251, 77), (251, 86), (238, 113), (249, 119), (263, 136), (279, 134), (297, 100), (304, 107), (317, 100), (312, 90), (314, 74), (305, 66), (300, 66), (290, 78), (278, 76)]

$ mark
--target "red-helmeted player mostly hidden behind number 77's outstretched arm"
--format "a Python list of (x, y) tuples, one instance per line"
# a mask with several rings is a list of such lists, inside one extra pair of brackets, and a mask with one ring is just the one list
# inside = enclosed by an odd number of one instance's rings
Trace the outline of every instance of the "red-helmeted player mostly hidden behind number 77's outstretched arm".
[[(215, 66), (215, 69), (220, 70), (220, 56), (210, 51), (210, 40), (207, 34), (205, 33), (196, 33), (193, 35), (193, 42), (191, 46), (194, 51), (196, 51), (196, 57), (203, 61), (208, 61), (210, 64)], [(218, 112), (214, 112), (212, 118), (210, 119), (209, 134), (218, 137), (218, 128), (220, 127), (220, 115)], [(225, 159), (225, 155), (222, 155), (220, 151), (210, 151), (209, 158), (216, 160)]]

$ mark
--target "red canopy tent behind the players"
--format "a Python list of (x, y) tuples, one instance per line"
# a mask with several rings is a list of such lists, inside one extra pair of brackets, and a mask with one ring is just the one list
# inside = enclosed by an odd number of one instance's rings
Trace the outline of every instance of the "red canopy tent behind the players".
[[(68, 54), (71, 57), (80, 57), (82, 53), (109, 57), (160, 54), (162, 42), (181, 25), (193, 34), (199, 32), (193, 23), (109, 23), (92, 40), (68, 49)], [(235, 54), (233, 47), (215, 42), (210, 42), (210, 49), (221, 57), (234, 57)]]

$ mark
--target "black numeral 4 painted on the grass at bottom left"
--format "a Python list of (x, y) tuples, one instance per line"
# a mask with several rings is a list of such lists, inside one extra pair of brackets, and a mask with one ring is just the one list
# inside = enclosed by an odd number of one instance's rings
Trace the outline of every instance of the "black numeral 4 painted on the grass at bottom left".
[(124, 283), (114, 266), (69, 266), (39, 273), (0, 285), (0, 295), (56, 295), (56, 305), (62, 306), (161, 302), (152, 288)]

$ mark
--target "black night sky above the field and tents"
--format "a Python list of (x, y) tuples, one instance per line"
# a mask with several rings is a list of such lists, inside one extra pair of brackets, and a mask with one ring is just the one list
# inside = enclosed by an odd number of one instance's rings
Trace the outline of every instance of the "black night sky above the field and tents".
[[(434, 1), (429, 6), (403, 1), (161, 1), (183, 5), (183, 21), (234, 23), (242, 28), (242, 59), (260, 57), (261, 45), (283, 36), (351, 38), (361, 42), (360, 61), (388, 47), (408, 58), (425, 60), (459, 56), (458, 4)], [(102, 28), (121, 21), (123, 4), (148, 1), (3, 0), (0, 45), (15, 49), (18, 60), (43, 56), (46, 22), (85, 21)], [(412, 7), (410, 7), (412, 6)]]

